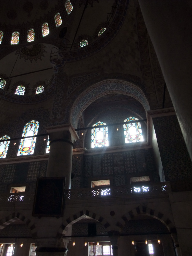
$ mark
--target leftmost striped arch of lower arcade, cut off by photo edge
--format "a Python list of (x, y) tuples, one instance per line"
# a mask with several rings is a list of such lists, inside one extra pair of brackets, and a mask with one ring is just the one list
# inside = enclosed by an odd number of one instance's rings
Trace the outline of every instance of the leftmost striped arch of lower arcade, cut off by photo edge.
[(28, 228), (31, 230), (31, 233), (33, 236), (37, 236), (37, 231), (34, 222), (32, 222), (30, 219), (25, 217), (24, 215), (20, 214), (19, 212), (13, 212), (12, 214), (4, 217), (0, 220), (0, 230), (4, 229), (9, 224), (13, 223), (16, 220), (22, 220)]

